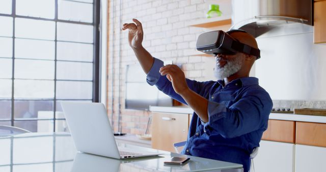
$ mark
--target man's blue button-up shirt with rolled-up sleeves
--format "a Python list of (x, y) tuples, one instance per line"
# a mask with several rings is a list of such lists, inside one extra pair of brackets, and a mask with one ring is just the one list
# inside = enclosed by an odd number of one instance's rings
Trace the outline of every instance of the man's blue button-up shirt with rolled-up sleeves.
[[(175, 93), (172, 83), (161, 76), (163, 62), (154, 58), (147, 82), (186, 104)], [(268, 116), (273, 107), (269, 94), (258, 85), (258, 78), (244, 77), (231, 81), (198, 82), (186, 79), (188, 87), (208, 100), (208, 122), (204, 123), (194, 112), (188, 138), (182, 154), (243, 164), (250, 168), (250, 154), (259, 147), (267, 129)]]

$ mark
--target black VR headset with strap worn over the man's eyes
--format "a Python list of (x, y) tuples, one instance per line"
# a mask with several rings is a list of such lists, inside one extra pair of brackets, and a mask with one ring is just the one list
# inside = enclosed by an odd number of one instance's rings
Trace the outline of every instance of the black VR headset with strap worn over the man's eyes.
[[(257, 59), (260, 58), (260, 50), (251, 47), (247, 44), (243, 44), (238, 40), (232, 38), (229, 34), (233, 32), (244, 32), (242, 30), (231, 30), (228, 32), (212, 31), (199, 35), (196, 43), (196, 48), (199, 51), (207, 54), (235, 54), (237, 52), (243, 52), (250, 55), (255, 55)], [(257, 60), (256, 59), (256, 60)]]

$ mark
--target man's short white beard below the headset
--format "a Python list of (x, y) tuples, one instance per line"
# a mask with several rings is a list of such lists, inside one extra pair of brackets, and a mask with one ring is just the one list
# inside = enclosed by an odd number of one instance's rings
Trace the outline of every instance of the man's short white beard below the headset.
[(216, 62), (215, 68), (214, 68), (214, 76), (218, 80), (223, 80), (224, 78), (227, 78), (236, 72), (240, 70), (242, 66), (242, 59), (240, 56), (237, 56), (233, 61), (227, 61), (227, 64), (225, 64), (223, 67), (220, 67), (218, 65), (218, 62)]

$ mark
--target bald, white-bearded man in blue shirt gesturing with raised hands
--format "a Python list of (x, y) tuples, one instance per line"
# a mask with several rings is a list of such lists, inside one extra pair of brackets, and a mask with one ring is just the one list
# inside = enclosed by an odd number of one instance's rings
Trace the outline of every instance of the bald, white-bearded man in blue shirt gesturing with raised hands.
[[(166, 65), (153, 58), (142, 46), (140, 21), (123, 24), (147, 82), (195, 112), (189, 127), (183, 154), (243, 164), (250, 169), (250, 154), (259, 147), (267, 129), (273, 103), (259, 86), (258, 78), (249, 77), (259, 56), (244, 52), (215, 53), (214, 75), (218, 81), (198, 82), (186, 79), (176, 65)], [(232, 39), (258, 50), (253, 36), (231, 31)]]

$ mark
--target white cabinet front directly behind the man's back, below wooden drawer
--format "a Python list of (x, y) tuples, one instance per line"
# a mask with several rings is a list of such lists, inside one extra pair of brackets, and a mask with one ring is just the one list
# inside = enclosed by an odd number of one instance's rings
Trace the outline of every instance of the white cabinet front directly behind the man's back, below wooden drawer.
[(260, 141), (254, 158), (256, 172), (293, 171), (294, 144), (277, 141)]

